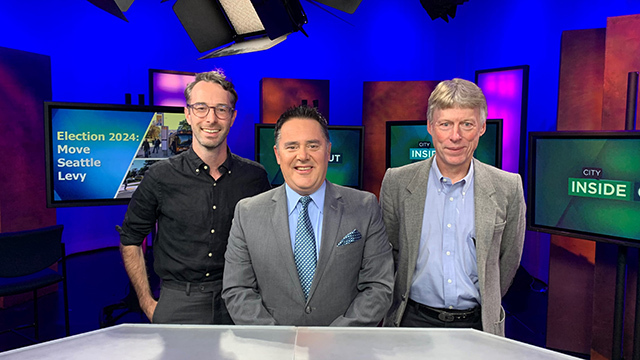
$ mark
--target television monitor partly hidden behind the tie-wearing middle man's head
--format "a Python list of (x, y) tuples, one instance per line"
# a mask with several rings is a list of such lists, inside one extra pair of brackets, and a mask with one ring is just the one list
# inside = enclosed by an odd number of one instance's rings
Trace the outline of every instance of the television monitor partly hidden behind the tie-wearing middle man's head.
[[(281, 185), (284, 178), (273, 152), (275, 124), (256, 124), (255, 131), (255, 159), (267, 169), (271, 185)], [(329, 138), (331, 157), (327, 180), (334, 184), (361, 189), (364, 127), (330, 125)]]

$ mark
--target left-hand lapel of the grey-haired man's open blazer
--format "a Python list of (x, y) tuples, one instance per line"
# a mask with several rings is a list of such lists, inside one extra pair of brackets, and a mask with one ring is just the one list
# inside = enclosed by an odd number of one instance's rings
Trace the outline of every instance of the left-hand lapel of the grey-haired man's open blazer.
[[(427, 183), (429, 181), (429, 170), (431, 169), (431, 159), (425, 160), (415, 172), (411, 182), (407, 185), (407, 196), (404, 199), (404, 222), (407, 230), (407, 254), (408, 263), (415, 264), (418, 261), (418, 249), (420, 247), (420, 235), (422, 233), (422, 219), (424, 217), (424, 202), (427, 198)], [(407, 269), (408, 281), (413, 278), (413, 267)]]

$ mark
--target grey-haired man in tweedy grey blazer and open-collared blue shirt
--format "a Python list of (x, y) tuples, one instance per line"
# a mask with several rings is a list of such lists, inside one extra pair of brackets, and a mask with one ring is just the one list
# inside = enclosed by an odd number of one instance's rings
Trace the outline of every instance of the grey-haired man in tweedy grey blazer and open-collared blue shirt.
[(469, 327), (504, 336), (500, 305), (520, 263), (520, 176), (473, 158), (487, 103), (474, 83), (443, 81), (429, 97), (435, 156), (388, 169), (380, 203), (396, 280), (387, 326)]

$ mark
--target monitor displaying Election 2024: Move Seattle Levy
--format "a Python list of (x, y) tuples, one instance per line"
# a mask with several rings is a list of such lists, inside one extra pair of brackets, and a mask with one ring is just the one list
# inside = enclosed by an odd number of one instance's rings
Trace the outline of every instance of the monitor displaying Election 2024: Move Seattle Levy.
[(44, 117), (48, 207), (126, 204), (191, 143), (182, 107), (45, 102)]

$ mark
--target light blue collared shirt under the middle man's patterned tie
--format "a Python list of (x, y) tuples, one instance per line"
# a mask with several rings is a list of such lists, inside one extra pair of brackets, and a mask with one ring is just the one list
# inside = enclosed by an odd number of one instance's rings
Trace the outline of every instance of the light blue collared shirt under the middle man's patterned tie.
[[(296, 245), (296, 227), (298, 226), (298, 215), (302, 209), (302, 204), (299, 202), (302, 197), (297, 192), (293, 191), (289, 185), (284, 184), (285, 191), (287, 193), (287, 211), (289, 214), (289, 234), (291, 237), (291, 251), (295, 249)], [(311, 220), (311, 226), (313, 227), (313, 235), (316, 237), (316, 258), (320, 256), (320, 242), (322, 241), (322, 214), (324, 209), (324, 193), (327, 189), (326, 181), (322, 183), (320, 188), (316, 190), (311, 196), (311, 201), (307, 210), (309, 211), (309, 220)]]

